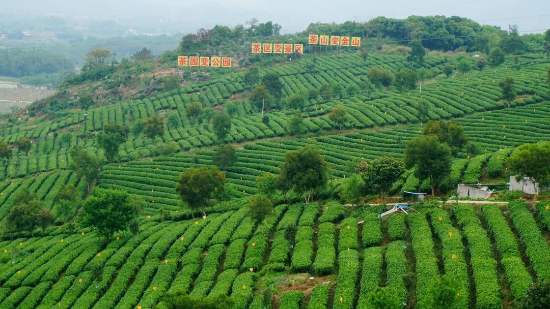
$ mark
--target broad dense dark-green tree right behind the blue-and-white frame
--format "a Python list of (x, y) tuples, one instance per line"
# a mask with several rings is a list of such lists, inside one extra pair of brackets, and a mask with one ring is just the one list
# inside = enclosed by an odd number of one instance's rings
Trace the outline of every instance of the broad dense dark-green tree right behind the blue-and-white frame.
[(361, 162), (356, 170), (368, 193), (381, 194), (384, 198), (392, 184), (405, 172), (405, 164), (401, 160), (381, 156), (371, 162)]

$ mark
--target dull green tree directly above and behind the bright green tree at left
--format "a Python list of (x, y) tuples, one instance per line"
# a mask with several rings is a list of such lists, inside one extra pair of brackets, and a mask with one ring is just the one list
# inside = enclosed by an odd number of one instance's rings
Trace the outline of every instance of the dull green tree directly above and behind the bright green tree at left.
[(89, 193), (90, 188), (92, 188), (101, 177), (103, 158), (92, 156), (81, 147), (73, 147), (69, 154), (71, 159), (69, 169), (74, 171), (78, 178), (84, 177), (86, 179), (86, 192)]

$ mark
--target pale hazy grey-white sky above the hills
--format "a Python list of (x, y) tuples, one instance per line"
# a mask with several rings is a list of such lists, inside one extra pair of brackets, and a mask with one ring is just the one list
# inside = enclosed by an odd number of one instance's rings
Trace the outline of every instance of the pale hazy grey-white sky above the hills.
[[(550, 28), (550, 0), (1, 0), (0, 12), (61, 13), (116, 19), (127, 25), (147, 25), (156, 31), (189, 32), (215, 24), (233, 26), (251, 17), (273, 20), (282, 32), (304, 30), (315, 21), (366, 21), (376, 16), (459, 15), (482, 24), (520, 31)], [(525, 16), (546, 15), (530, 18)], [(497, 20), (498, 19), (498, 20)], [(165, 27), (160, 27), (164, 25)]]

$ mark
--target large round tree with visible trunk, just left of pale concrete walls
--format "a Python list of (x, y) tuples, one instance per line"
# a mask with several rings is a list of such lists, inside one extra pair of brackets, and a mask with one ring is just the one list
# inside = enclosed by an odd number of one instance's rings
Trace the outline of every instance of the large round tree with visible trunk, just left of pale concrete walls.
[(449, 145), (433, 134), (412, 139), (405, 149), (405, 167), (416, 166), (415, 176), (421, 182), (428, 179), (432, 196), (437, 184), (449, 175), (452, 158)]

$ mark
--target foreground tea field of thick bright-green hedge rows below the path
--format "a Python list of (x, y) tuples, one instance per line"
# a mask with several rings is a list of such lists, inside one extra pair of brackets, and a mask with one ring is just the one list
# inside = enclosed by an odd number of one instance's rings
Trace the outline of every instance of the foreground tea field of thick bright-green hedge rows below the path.
[[(144, 217), (135, 237), (108, 242), (52, 227), (45, 237), (0, 243), (8, 261), (0, 266), (0, 308), (152, 308), (177, 289), (263, 308), (255, 284), (268, 269), (288, 272), (278, 299), (285, 308), (363, 307), (377, 286), (423, 308), (442, 274), (458, 279), (453, 308), (500, 308), (525, 297), (533, 279), (550, 278), (547, 205), (423, 207), (382, 221), (379, 209), (345, 217), (350, 210), (334, 202), (279, 205), (259, 225), (241, 207), (179, 222)], [(285, 237), (289, 225), (298, 227), (295, 238)], [(407, 272), (415, 276), (404, 280)], [(313, 289), (300, 291), (300, 280)]]

